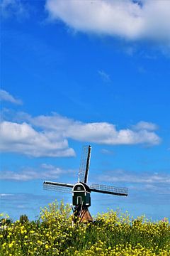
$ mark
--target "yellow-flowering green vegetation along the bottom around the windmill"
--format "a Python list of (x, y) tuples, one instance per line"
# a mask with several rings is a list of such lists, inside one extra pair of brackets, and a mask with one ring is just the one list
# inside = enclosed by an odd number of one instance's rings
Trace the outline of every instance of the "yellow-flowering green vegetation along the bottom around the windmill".
[[(40, 218), (23, 215), (16, 222), (1, 220), (0, 255), (170, 255), (168, 219), (151, 222), (144, 216), (110, 210), (94, 223), (72, 225), (71, 209), (64, 203), (42, 208)], [(1, 215), (1, 218), (2, 215)]]

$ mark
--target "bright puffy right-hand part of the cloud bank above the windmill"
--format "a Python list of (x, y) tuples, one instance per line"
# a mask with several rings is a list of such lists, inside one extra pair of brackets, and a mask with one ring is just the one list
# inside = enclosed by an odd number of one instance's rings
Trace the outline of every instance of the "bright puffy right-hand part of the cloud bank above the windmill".
[(74, 124), (67, 130), (67, 137), (79, 141), (98, 144), (159, 144), (160, 139), (154, 132), (141, 129), (138, 132), (130, 129), (117, 130), (114, 124), (107, 122)]

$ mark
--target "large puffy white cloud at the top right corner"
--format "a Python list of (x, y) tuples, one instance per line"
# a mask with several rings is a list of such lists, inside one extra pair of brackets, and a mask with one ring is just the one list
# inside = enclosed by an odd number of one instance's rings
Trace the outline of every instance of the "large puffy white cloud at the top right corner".
[(170, 1), (167, 0), (46, 0), (53, 20), (76, 31), (170, 41)]

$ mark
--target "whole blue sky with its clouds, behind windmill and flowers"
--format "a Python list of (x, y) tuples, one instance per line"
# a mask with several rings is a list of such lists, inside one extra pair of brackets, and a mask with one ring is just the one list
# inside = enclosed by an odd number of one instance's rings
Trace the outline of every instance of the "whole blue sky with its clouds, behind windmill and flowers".
[(170, 212), (169, 1), (1, 1), (0, 212), (35, 219), (91, 144), (91, 214)]

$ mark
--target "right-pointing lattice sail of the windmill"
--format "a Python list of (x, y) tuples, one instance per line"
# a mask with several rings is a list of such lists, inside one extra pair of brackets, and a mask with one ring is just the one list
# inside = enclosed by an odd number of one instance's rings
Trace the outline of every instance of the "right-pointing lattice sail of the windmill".
[(90, 189), (92, 192), (107, 193), (115, 196), (128, 196), (128, 188), (91, 184)]

